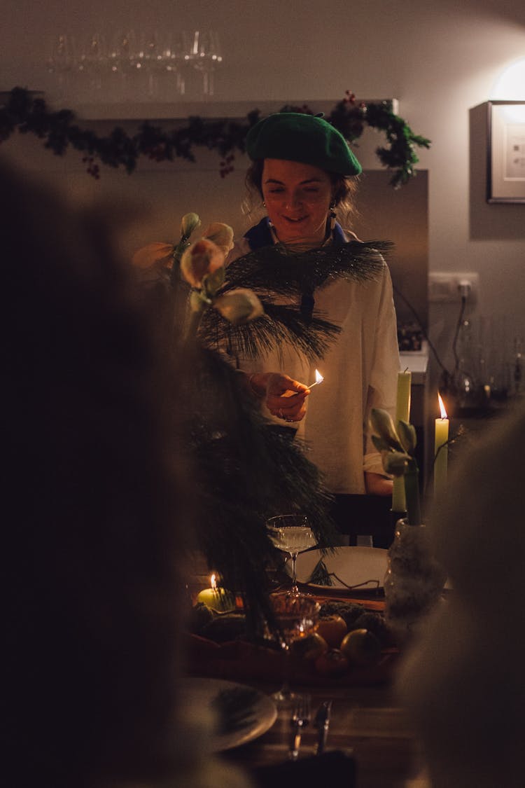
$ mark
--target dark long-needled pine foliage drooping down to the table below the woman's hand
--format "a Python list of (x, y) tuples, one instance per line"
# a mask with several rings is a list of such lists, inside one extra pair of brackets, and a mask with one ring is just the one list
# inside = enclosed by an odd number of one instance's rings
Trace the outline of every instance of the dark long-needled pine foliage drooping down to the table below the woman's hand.
[(250, 620), (268, 617), (268, 517), (306, 511), (320, 545), (335, 544), (319, 470), (289, 431), (261, 416), (242, 376), (217, 353), (194, 349), (184, 375), (187, 441), (198, 505), (195, 545), (224, 585), (245, 595)]

